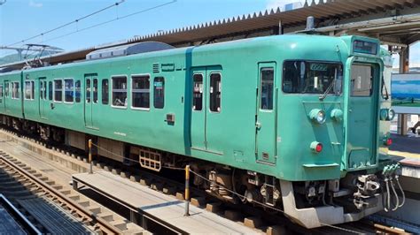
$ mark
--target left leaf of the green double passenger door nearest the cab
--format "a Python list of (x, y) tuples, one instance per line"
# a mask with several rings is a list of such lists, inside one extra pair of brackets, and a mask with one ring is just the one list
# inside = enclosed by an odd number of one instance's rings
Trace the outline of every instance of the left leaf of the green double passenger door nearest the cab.
[(206, 68), (194, 68), (191, 74), (191, 148), (206, 149)]

